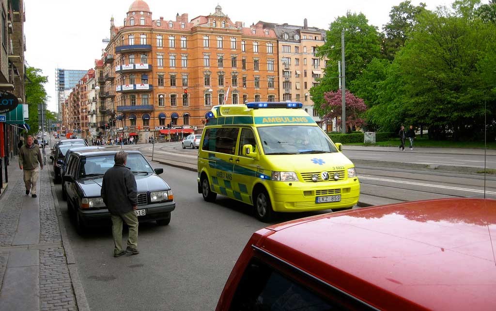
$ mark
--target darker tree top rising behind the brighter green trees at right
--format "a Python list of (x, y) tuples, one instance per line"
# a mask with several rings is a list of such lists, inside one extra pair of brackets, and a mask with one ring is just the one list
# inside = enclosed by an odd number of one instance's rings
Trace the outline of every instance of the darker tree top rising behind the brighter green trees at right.
[(384, 40), (382, 53), (392, 61), (394, 55), (405, 45), (408, 34), (418, 23), (418, 16), (426, 10), (426, 4), (420, 2), (414, 6), (410, 0), (395, 5), (389, 11), (389, 22), (382, 27)]

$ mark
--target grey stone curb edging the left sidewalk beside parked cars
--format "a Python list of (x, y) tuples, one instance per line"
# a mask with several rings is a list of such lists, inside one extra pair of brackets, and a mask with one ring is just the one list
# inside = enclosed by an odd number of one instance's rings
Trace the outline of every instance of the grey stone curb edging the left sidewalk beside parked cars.
[(65, 230), (65, 225), (62, 219), (62, 211), (59, 205), (59, 199), (57, 198), (57, 194), (55, 193), (55, 184), (52, 179), (51, 172), (52, 167), (47, 164), (45, 165), (48, 168), (50, 186), (52, 188), (52, 196), (54, 198), (54, 206), (55, 212), (57, 214), (57, 219), (59, 220), (59, 228), (61, 231), (62, 237), (62, 247), (65, 252), (65, 260), (67, 261), (67, 268), (69, 270), (70, 282), (72, 283), (72, 289), (74, 290), (74, 295), (76, 296), (76, 305), (79, 311), (90, 311), (90, 307), (88, 305), (88, 301), (86, 300), (86, 295), (84, 294), (84, 289), (81, 284), (81, 280), (79, 279), (79, 273), (77, 272), (76, 261), (74, 259), (74, 254), (72, 252), (72, 248), (69, 243), (69, 236), (67, 235), (67, 231)]

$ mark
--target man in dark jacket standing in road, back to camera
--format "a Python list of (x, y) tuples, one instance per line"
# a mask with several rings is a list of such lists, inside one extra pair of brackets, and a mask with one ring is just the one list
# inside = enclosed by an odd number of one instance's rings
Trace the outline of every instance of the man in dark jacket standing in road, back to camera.
[[(136, 179), (129, 167), (125, 166), (127, 154), (124, 151), (114, 156), (114, 167), (109, 168), (103, 176), (101, 196), (112, 218), (114, 236), (114, 257), (126, 252), (138, 254), (138, 217), (134, 210), (138, 208)], [(123, 247), (123, 221), (129, 227), (127, 248)]]

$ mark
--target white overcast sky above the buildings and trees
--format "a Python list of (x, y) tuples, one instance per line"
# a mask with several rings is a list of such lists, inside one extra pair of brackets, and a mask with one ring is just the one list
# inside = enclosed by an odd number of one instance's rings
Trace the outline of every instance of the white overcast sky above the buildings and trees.
[[(148, 0), (153, 19), (175, 19), (187, 13), (189, 19), (208, 15), (220, 4), (231, 20), (247, 26), (258, 20), (328, 29), (329, 24), (346, 11), (362, 12), (379, 29), (389, 20), (389, 11), (401, 0), (250, 0), (250, 1), (164, 1)], [(412, 4), (418, 5), (417, 0)], [(450, 5), (452, 0), (424, 0), (428, 9)], [(488, 2), (488, 1), (484, 1)], [(25, 0), (26, 53), (29, 66), (40, 68), (48, 76), (45, 85), (50, 96), (48, 108), (57, 110), (55, 68), (88, 70), (105, 48), (103, 38), (110, 34), (110, 18), (121, 26), (132, 0)]]

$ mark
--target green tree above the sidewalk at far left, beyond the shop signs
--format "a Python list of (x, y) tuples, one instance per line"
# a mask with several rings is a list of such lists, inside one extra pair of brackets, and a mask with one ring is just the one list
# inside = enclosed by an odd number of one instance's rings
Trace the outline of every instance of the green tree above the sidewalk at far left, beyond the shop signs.
[(38, 132), (38, 104), (46, 103), (48, 100), (45, 83), (48, 77), (41, 76), (41, 69), (26, 67), (26, 103), (29, 105), (28, 124), (31, 127), (29, 134)]

